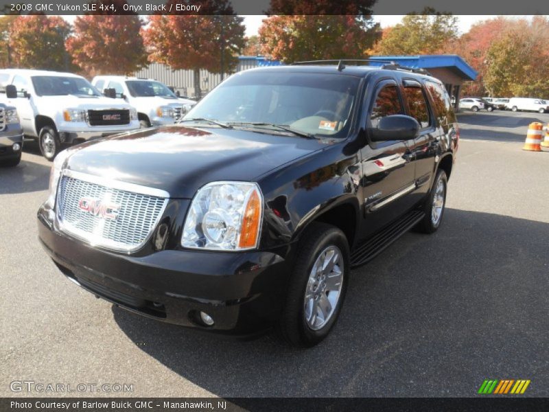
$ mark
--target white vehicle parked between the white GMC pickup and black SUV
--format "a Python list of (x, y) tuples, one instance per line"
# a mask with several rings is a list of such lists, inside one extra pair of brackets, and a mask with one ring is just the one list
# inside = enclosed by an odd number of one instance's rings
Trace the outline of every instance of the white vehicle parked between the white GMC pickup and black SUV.
[(153, 79), (126, 76), (96, 76), (91, 83), (111, 97), (122, 98), (135, 108), (142, 128), (174, 124), (183, 117), (194, 100), (183, 99), (170, 90), (165, 84)]

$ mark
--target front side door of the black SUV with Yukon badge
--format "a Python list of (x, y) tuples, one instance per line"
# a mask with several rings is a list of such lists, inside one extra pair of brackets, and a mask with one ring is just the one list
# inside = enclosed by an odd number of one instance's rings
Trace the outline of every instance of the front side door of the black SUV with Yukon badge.
[[(394, 79), (375, 85), (373, 98), (366, 102), (366, 129), (376, 128), (382, 117), (405, 113), (401, 91)], [(414, 190), (414, 167), (408, 141), (395, 134), (391, 141), (369, 141), (361, 150), (364, 216), (369, 233), (395, 220), (406, 211)]]

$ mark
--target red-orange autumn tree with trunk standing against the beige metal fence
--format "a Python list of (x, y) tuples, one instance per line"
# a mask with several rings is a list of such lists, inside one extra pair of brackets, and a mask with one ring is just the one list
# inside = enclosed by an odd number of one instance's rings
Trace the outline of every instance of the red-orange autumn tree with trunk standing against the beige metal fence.
[[(176, 0), (170, 0), (167, 8), (172, 2)], [(235, 69), (245, 30), (244, 19), (235, 15), (229, 0), (203, 1), (200, 12), (205, 15), (150, 16), (142, 32), (151, 62), (194, 71), (197, 98), (201, 97), (200, 69), (211, 73)]]

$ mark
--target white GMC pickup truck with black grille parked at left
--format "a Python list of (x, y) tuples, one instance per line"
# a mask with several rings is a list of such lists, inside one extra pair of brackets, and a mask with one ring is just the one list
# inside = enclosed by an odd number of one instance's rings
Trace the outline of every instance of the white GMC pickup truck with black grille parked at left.
[(16, 87), (17, 99), (0, 95), (0, 100), (17, 108), (25, 137), (38, 139), (40, 152), (49, 161), (63, 149), (62, 145), (139, 128), (135, 108), (104, 97), (82, 76), (2, 69), (0, 84)]

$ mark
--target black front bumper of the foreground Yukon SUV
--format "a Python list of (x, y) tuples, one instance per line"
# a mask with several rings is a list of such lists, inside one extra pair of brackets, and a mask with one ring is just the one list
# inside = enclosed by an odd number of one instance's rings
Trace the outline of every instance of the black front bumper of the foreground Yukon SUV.
[[(56, 227), (51, 209), (38, 211), (38, 236), (60, 271), (122, 308), (219, 334), (253, 336), (279, 317), (288, 261), (277, 253), (163, 250), (146, 255), (107, 251)], [(200, 311), (214, 325), (200, 321)]]

